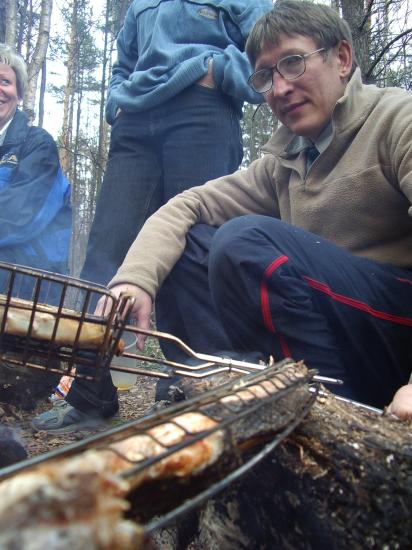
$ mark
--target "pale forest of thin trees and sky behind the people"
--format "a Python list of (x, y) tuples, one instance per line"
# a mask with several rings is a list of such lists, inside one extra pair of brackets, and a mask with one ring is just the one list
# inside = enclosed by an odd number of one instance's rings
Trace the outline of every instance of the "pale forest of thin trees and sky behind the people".
[[(131, 0), (2, 0), (0, 42), (29, 69), (23, 109), (55, 137), (72, 183), (70, 271), (78, 276), (107, 161), (104, 106), (116, 36)], [(324, 3), (328, 3), (327, 0)], [(412, 89), (412, 0), (332, 0), (348, 21), (365, 82)], [(48, 115), (48, 113), (50, 113)], [(276, 127), (265, 105), (245, 104), (246, 167)]]

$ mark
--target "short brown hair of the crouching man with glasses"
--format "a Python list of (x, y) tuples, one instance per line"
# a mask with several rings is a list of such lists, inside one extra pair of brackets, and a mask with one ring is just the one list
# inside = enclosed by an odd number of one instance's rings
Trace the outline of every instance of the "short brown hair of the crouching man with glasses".
[(282, 34), (307, 36), (318, 48), (326, 49), (346, 40), (353, 50), (349, 25), (337, 11), (305, 0), (278, 0), (257, 21), (247, 40), (246, 53), (253, 67), (265, 48), (279, 46)]

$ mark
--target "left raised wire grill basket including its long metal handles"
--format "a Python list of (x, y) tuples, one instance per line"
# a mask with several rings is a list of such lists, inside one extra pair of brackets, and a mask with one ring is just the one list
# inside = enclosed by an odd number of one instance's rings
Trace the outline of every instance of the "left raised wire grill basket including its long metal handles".
[[(94, 315), (97, 302), (104, 316)], [(112, 370), (158, 378), (247, 374), (268, 367), (196, 353), (171, 334), (128, 325), (132, 305), (133, 298), (127, 294), (117, 299), (104, 287), (86, 281), (0, 262), (0, 361), (90, 380), (100, 378), (101, 369), (109, 367), (114, 354), (161, 364), (168, 367), (168, 372), (124, 365), (110, 365)], [(172, 342), (197, 364), (123, 353), (121, 336), (125, 330)], [(79, 365), (88, 368), (78, 370)], [(342, 383), (321, 376), (314, 379)]]

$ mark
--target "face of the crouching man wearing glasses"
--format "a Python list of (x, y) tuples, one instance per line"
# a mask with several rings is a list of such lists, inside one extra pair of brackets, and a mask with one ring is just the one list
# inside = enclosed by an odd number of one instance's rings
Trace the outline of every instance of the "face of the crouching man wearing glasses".
[[(282, 35), (279, 46), (266, 48), (255, 70), (273, 67), (288, 55), (304, 55), (319, 46), (309, 37)], [(350, 46), (342, 41), (328, 52), (306, 59), (306, 71), (295, 80), (285, 80), (277, 71), (265, 99), (276, 117), (294, 134), (315, 140), (329, 123), (336, 101), (343, 95), (352, 67)]]

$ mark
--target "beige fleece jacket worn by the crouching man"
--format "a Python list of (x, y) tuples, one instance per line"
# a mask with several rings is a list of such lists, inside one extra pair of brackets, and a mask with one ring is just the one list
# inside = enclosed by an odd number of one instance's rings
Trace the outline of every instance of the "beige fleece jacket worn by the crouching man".
[[(265, 156), (194, 187), (151, 216), (109, 286), (134, 283), (153, 298), (196, 223), (275, 216), (351, 253), (412, 269), (412, 94), (362, 84), (357, 70), (337, 102), (334, 137), (305, 177), (304, 153), (281, 127)], [(409, 210), (409, 215), (408, 215)]]

